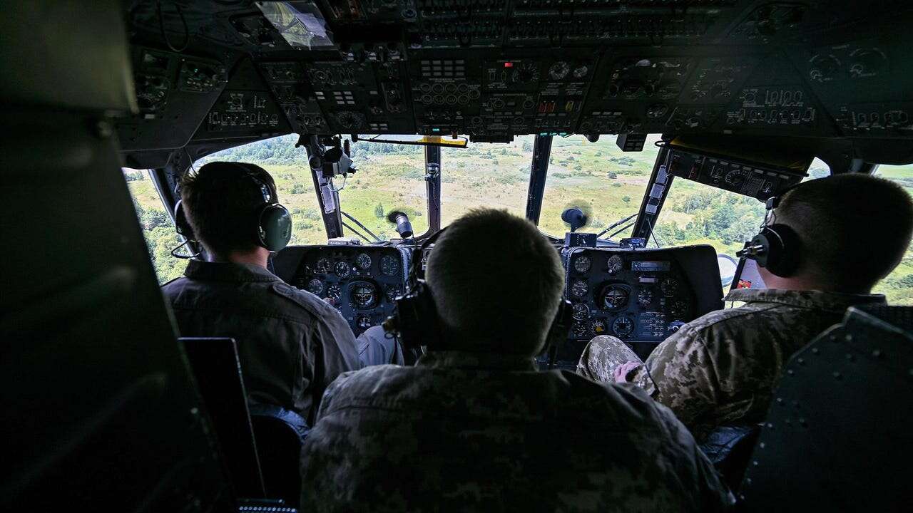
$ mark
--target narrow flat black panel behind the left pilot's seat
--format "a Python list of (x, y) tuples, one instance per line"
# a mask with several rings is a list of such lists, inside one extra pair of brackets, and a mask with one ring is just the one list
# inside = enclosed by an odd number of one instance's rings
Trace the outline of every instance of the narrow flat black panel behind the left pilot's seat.
[[(238, 497), (267, 497), (235, 340), (179, 339)], [(294, 504), (294, 503), (292, 503)]]

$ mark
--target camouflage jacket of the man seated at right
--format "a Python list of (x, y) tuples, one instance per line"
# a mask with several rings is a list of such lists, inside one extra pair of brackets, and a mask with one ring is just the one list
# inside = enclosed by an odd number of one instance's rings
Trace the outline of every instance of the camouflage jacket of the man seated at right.
[[(761, 422), (792, 353), (840, 322), (851, 305), (885, 297), (739, 289), (726, 300), (746, 304), (688, 322), (656, 347), (645, 366), (628, 373), (628, 381), (671, 408), (698, 440), (719, 425)], [(595, 373), (611, 379), (608, 371)]]

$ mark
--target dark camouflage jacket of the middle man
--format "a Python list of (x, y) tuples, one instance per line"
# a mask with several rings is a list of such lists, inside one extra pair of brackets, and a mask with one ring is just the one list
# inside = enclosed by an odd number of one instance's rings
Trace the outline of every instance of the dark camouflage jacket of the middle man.
[(435, 351), (346, 372), (301, 451), (301, 511), (715, 511), (731, 495), (634, 385)]

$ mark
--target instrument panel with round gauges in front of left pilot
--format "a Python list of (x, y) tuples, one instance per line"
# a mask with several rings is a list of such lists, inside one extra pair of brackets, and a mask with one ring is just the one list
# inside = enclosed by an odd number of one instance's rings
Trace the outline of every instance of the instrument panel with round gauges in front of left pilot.
[(409, 253), (403, 248), (299, 246), (286, 252), (299, 257), (289, 283), (340, 310), (355, 336), (389, 317), (405, 291)]

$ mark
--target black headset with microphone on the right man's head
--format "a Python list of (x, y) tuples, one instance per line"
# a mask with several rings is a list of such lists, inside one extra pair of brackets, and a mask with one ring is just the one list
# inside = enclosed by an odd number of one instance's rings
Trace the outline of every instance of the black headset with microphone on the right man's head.
[[(791, 187), (792, 188), (792, 187)], [(754, 260), (779, 277), (790, 277), (799, 267), (802, 251), (802, 239), (791, 227), (776, 223), (773, 209), (777, 208), (783, 194), (772, 196), (767, 200), (767, 212), (761, 233), (751, 237), (745, 248), (736, 253), (736, 257)]]

